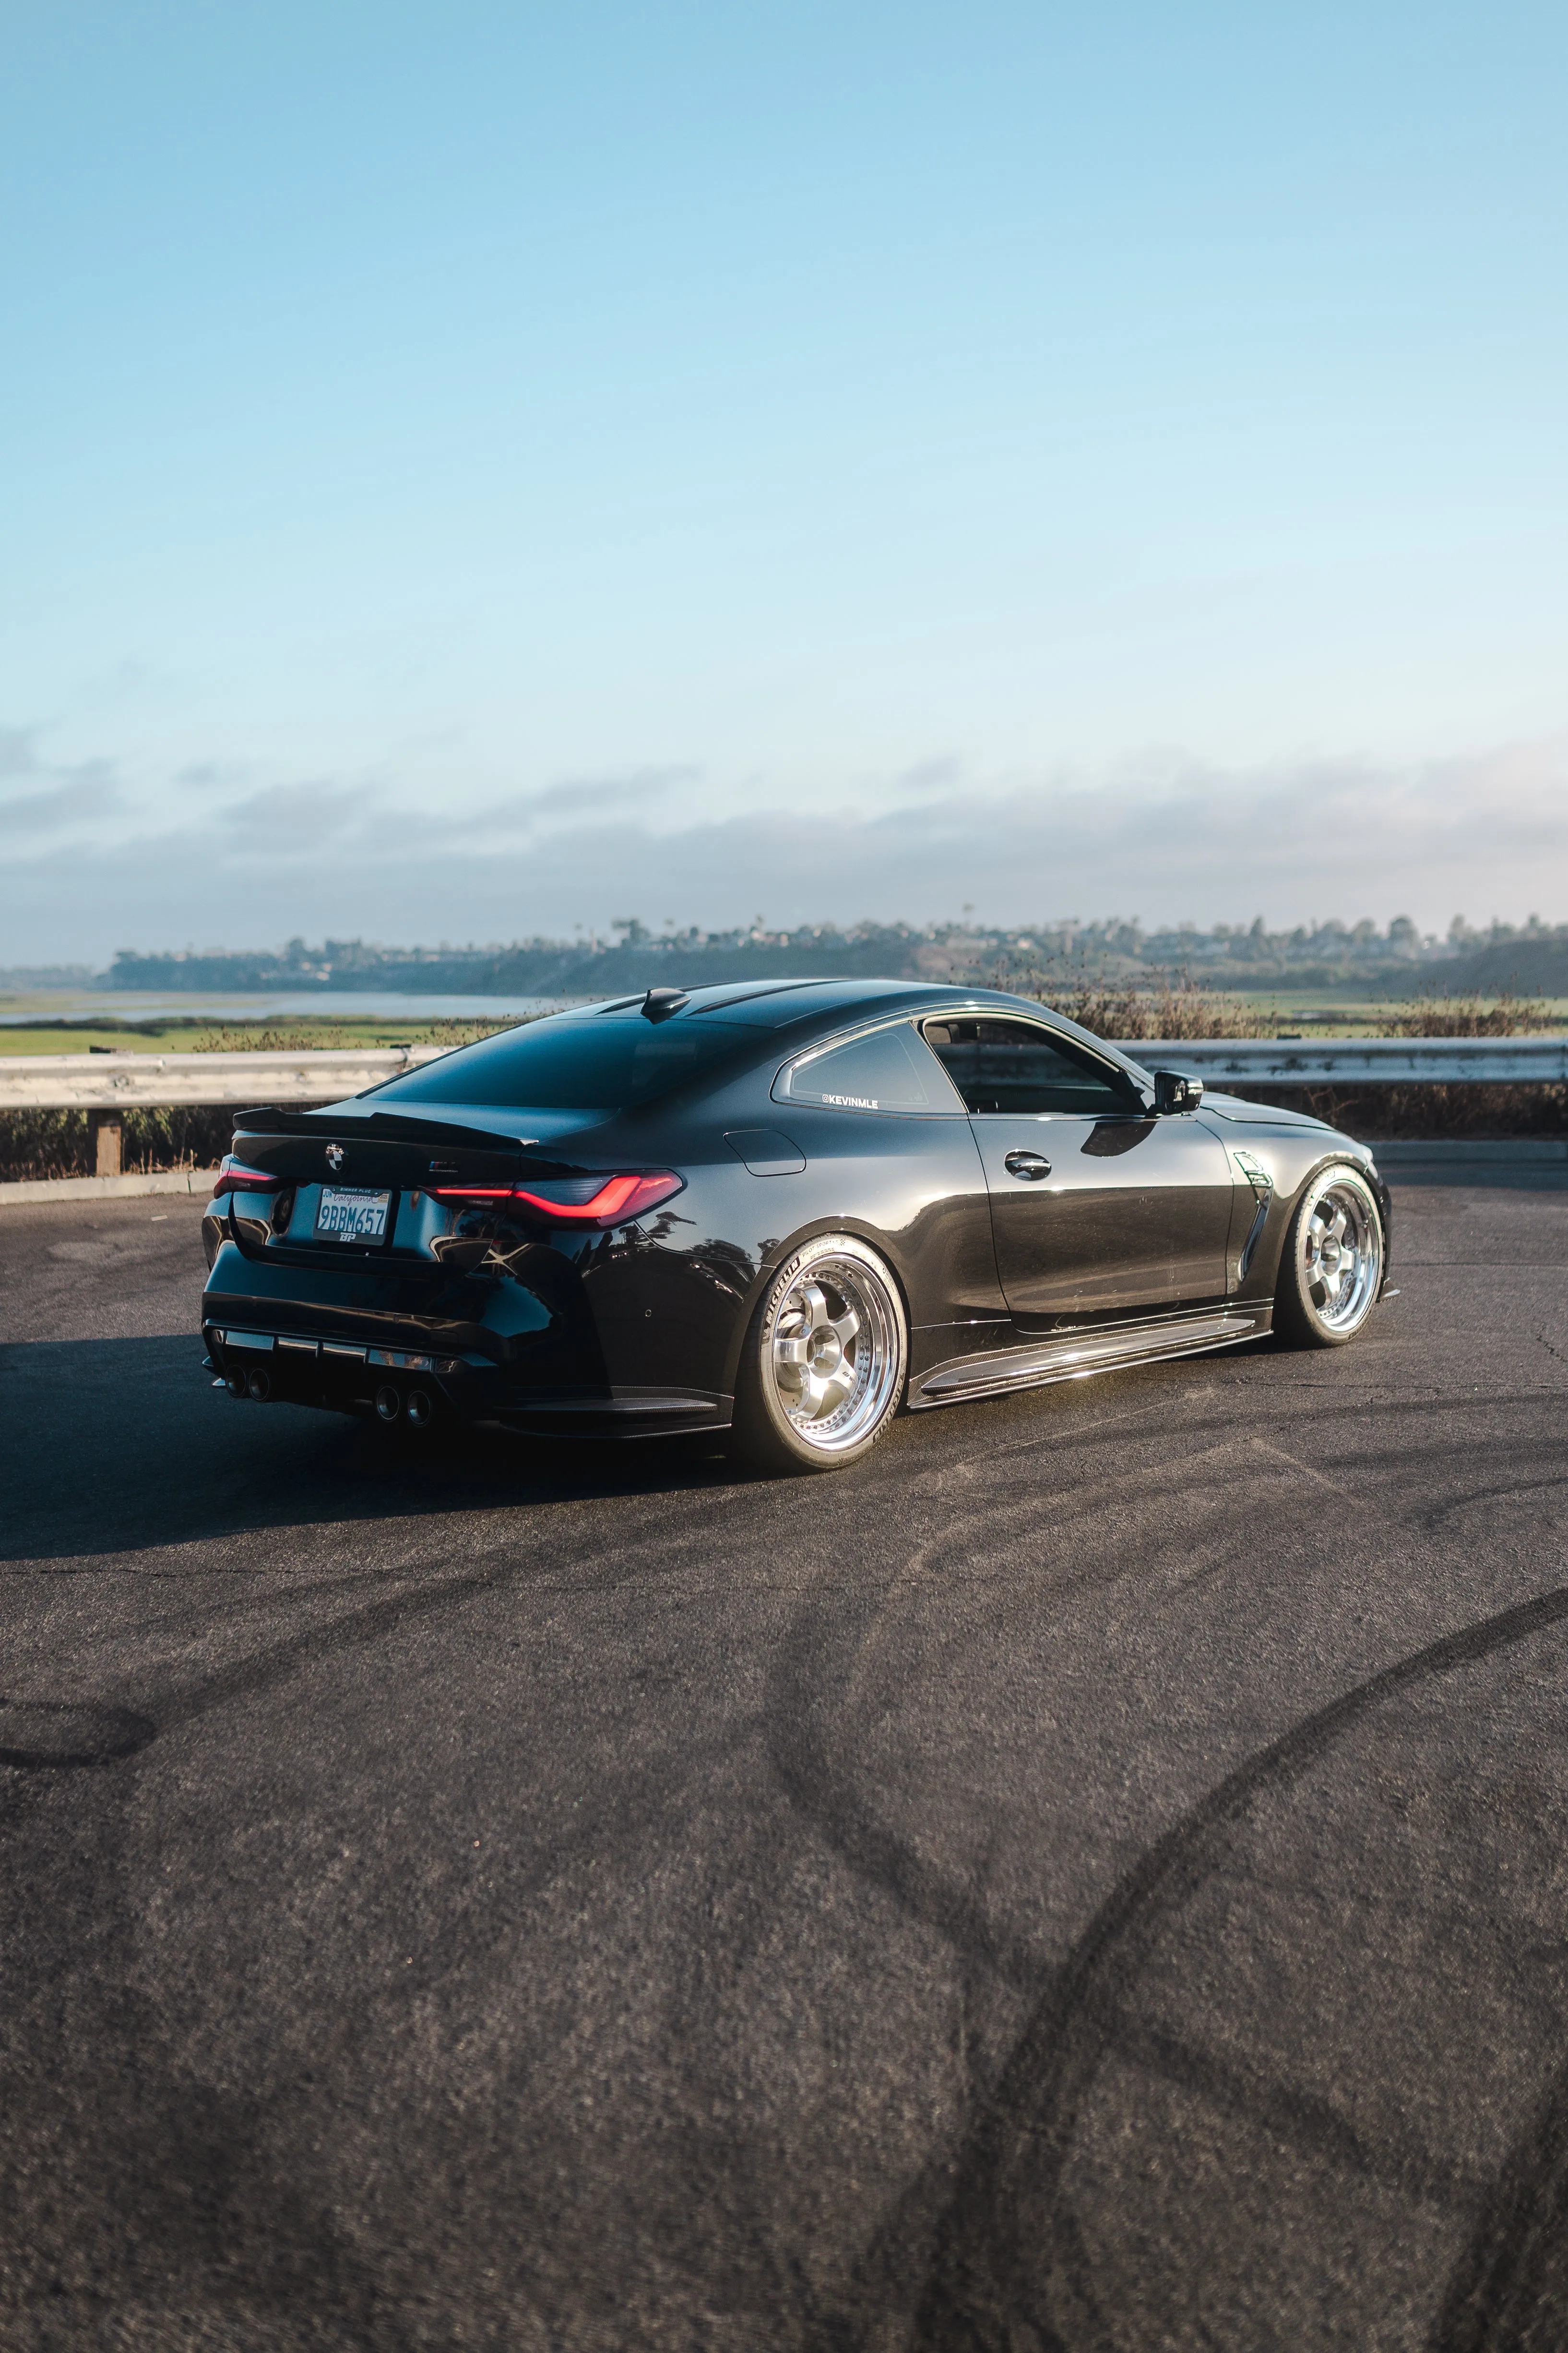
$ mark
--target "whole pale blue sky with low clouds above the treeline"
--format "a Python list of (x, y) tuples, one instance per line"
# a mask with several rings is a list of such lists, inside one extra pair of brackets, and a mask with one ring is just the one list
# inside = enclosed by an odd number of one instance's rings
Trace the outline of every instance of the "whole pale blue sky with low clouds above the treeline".
[(1568, 12), (0, 12), (0, 962), (1568, 918)]

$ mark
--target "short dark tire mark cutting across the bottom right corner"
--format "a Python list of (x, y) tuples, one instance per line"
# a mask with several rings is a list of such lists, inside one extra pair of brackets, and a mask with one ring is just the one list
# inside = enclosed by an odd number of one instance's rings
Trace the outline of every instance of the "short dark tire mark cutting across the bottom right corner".
[(1559, 2353), (1568, 2341), (1568, 2068), (1509, 2151), (1453, 2268), (1432, 2353)]

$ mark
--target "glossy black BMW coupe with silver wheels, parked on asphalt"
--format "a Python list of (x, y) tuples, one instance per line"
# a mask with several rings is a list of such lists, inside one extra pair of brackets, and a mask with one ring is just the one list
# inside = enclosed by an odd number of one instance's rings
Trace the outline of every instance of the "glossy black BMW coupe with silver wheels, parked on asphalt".
[(237, 1120), (202, 1329), (237, 1398), (726, 1431), (830, 1471), (900, 1407), (1258, 1339), (1387, 1289), (1373, 1155), (1025, 998), (654, 988)]

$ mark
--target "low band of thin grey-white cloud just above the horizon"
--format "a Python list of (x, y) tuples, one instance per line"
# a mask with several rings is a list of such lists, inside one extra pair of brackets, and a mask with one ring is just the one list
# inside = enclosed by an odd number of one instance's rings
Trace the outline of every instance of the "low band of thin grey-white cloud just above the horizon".
[(816, 791), (790, 807), (778, 786), (748, 784), (731, 814), (696, 816), (689, 776), (632, 769), (458, 816), (404, 814), (371, 786), (292, 784), (158, 838), (106, 826), (71, 856), (40, 835), (0, 861), (0, 960), (207, 934), (214, 859), (242, 889), (247, 941), (571, 936), (623, 913), (722, 927), (757, 908), (773, 925), (929, 922), (964, 901), (987, 922), (1262, 913), (1279, 927), (1408, 911), (1422, 929), (1568, 908), (1563, 739), (1420, 767), (1145, 758), (1098, 784), (912, 788), (872, 814)]

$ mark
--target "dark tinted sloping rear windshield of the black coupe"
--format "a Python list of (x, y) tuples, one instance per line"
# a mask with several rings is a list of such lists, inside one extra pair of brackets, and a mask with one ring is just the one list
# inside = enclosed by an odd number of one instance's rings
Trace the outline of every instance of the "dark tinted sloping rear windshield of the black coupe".
[(376, 1104), (489, 1104), (508, 1111), (630, 1111), (705, 1078), (752, 1038), (696, 1021), (536, 1021), (458, 1047), (376, 1087)]

